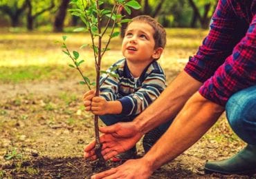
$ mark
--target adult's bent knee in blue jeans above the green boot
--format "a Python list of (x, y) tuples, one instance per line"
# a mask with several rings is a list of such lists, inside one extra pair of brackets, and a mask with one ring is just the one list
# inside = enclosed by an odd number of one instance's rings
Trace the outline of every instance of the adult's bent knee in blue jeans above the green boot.
[(233, 94), (226, 104), (226, 115), (237, 136), (256, 145), (256, 85)]

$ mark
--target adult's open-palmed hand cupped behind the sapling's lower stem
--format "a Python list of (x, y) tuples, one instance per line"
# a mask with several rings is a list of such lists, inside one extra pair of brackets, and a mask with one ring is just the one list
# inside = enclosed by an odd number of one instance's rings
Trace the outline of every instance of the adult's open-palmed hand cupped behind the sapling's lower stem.
[[(102, 143), (102, 155), (105, 160), (131, 149), (143, 136), (134, 122), (100, 127), (100, 131), (104, 133), (100, 136), (100, 143)], [(96, 159), (94, 146), (95, 141), (85, 147), (85, 158)]]

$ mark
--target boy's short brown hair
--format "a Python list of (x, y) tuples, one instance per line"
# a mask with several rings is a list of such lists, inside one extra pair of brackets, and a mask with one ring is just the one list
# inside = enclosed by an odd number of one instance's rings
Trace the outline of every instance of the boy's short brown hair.
[(131, 22), (134, 22), (134, 21), (140, 21), (140, 22), (148, 23), (149, 25), (151, 25), (152, 28), (154, 29), (154, 35), (153, 35), (154, 41), (155, 41), (154, 48), (165, 48), (166, 32), (165, 32), (165, 28), (163, 28), (163, 25), (158, 23), (156, 19), (147, 15), (140, 15), (140, 16), (134, 17)]

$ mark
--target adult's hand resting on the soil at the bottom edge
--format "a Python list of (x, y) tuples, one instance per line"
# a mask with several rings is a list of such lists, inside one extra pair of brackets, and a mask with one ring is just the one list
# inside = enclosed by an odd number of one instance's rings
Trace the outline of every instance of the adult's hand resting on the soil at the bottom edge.
[(148, 162), (144, 158), (137, 160), (127, 160), (124, 164), (119, 167), (97, 173), (94, 176), (91, 176), (93, 179), (100, 178), (149, 178), (153, 173), (151, 167), (148, 165)]

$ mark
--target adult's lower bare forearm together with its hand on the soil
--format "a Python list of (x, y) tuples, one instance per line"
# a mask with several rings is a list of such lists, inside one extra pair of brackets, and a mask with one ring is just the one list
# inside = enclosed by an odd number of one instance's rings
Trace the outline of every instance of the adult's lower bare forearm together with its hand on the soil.
[(92, 178), (149, 178), (158, 167), (176, 158), (199, 140), (223, 110), (223, 107), (196, 92), (176, 116), (170, 128), (143, 158), (128, 160), (123, 165), (98, 173)]

